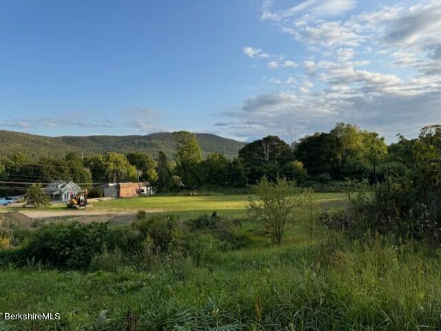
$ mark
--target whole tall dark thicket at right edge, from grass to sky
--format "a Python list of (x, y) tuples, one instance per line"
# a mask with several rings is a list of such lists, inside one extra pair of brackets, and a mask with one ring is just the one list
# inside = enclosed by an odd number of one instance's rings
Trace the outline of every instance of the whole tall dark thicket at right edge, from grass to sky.
[(365, 233), (390, 234), (441, 245), (441, 126), (422, 129), (418, 139), (393, 146), (402, 164), (383, 169), (376, 190), (366, 182), (348, 186), (349, 208), (323, 215), (331, 228), (344, 228), (352, 237)]

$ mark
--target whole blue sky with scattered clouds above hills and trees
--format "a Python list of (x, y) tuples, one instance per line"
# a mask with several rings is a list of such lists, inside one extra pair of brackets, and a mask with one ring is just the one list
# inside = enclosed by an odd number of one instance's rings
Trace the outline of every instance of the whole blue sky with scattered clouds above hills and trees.
[(0, 1), (0, 129), (388, 142), (441, 122), (441, 0)]

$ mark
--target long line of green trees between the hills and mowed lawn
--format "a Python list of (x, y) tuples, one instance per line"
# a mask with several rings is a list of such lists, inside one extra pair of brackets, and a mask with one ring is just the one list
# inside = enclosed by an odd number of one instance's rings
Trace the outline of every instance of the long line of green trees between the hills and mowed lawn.
[(400, 137), (387, 145), (376, 132), (338, 123), (329, 132), (305, 136), (288, 145), (278, 136), (254, 140), (240, 149), (238, 157), (221, 153), (202, 157), (194, 134), (174, 132), (176, 153), (167, 158), (159, 152), (115, 153), (85, 156), (69, 153), (63, 158), (42, 157), (32, 161), (23, 153), (0, 158), (0, 194), (23, 193), (25, 183), (73, 180), (84, 187), (104, 182), (148, 181), (158, 192), (207, 187), (244, 187), (265, 175), (295, 180), (303, 186), (343, 180), (384, 181), (387, 173), (404, 174), (411, 142)]

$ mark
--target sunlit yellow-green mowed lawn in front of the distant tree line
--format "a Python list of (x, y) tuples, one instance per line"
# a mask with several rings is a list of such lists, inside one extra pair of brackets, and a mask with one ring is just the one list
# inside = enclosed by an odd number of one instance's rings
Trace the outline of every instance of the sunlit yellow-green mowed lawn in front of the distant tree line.
[[(108, 211), (158, 211), (173, 212), (184, 216), (201, 215), (216, 211), (223, 216), (243, 216), (249, 204), (250, 195), (207, 195), (132, 197), (128, 199), (94, 202), (90, 209)], [(255, 196), (251, 196), (255, 197)], [(314, 193), (318, 204), (338, 204), (345, 198), (343, 193)]]

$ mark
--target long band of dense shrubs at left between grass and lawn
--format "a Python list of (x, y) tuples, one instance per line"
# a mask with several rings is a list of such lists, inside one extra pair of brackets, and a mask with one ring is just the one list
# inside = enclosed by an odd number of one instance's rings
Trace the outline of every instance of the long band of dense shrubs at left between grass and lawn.
[(112, 228), (107, 223), (45, 224), (27, 231), (17, 246), (0, 248), (0, 265), (115, 271), (128, 265), (145, 270), (183, 257), (202, 262), (216, 251), (244, 246), (239, 231), (240, 222), (216, 213), (181, 222), (176, 215), (139, 211), (132, 226)]

